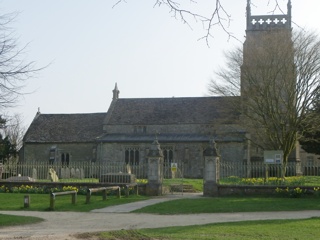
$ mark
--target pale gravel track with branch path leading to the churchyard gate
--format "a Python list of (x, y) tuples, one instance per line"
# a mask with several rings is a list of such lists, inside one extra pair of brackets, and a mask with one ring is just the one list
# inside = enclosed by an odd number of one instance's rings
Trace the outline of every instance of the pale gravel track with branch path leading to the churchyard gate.
[[(35, 216), (45, 221), (15, 227), (0, 228), (0, 239), (57, 239), (74, 240), (74, 234), (99, 232), (119, 229), (155, 228), (168, 226), (202, 225), (207, 223), (234, 222), (265, 219), (305, 219), (320, 217), (320, 211), (292, 212), (253, 212), (253, 213), (214, 213), (192, 215), (153, 215), (125, 212), (141, 208), (160, 201), (171, 200), (171, 197), (155, 198), (139, 203), (94, 210), (89, 213), (79, 212), (34, 212), (34, 211), (0, 211), (2, 214)], [(143, 203), (143, 204), (142, 204)], [(135, 207), (134, 207), (135, 206)], [(113, 209), (113, 210), (112, 210)]]

